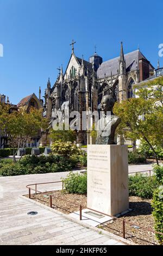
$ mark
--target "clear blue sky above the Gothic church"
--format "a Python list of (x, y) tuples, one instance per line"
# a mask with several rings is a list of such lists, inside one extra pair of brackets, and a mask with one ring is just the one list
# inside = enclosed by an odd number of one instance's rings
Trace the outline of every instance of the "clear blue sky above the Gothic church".
[[(95, 52), (103, 61), (137, 50), (156, 66), (162, 38), (162, 0), (0, 0), (0, 93), (17, 104), (22, 97), (42, 95), (74, 52), (84, 59)], [(160, 58), (163, 66), (163, 57)]]

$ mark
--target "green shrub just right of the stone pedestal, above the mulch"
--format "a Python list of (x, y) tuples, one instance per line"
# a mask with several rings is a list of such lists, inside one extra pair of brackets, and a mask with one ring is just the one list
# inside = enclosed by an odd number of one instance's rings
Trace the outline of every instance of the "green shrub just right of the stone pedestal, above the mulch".
[(129, 196), (152, 198), (153, 192), (158, 186), (155, 176), (147, 176), (136, 173), (129, 176)]

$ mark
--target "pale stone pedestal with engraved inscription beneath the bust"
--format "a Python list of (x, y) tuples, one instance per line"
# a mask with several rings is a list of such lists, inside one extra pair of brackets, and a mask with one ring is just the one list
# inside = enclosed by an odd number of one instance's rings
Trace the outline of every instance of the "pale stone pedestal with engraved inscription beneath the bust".
[(87, 208), (112, 216), (128, 210), (127, 145), (87, 145)]

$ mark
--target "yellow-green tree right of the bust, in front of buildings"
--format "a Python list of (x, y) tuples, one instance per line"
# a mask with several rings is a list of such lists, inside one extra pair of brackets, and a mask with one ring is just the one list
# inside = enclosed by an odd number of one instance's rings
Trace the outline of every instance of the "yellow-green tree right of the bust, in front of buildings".
[(144, 139), (153, 150), (156, 163), (158, 156), (154, 146), (163, 145), (163, 79), (146, 84), (147, 88), (139, 89), (139, 97), (116, 103), (114, 112), (121, 117), (118, 133), (131, 139)]

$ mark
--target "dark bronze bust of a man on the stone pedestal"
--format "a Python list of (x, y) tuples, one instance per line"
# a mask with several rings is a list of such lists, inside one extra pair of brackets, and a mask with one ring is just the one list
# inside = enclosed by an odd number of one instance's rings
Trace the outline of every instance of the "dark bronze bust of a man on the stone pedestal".
[[(115, 144), (115, 130), (121, 122), (121, 118), (112, 113), (114, 107), (114, 97), (105, 95), (101, 101), (101, 109), (104, 112), (103, 117), (97, 122), (96, 144)], [(109, 112), (110, 114), (108, 114)]]

